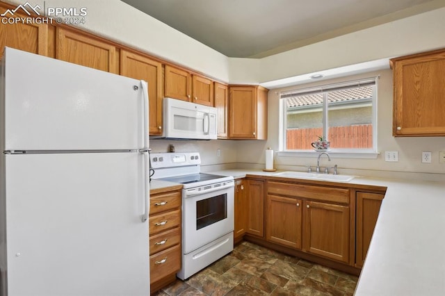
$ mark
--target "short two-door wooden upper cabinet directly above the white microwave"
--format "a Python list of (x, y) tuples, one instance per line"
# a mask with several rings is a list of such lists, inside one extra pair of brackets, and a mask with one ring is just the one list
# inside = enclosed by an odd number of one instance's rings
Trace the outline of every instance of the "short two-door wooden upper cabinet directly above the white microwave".
[(165, 97), (213, 106), (213, 81), (184, 69), (165, 65)]

